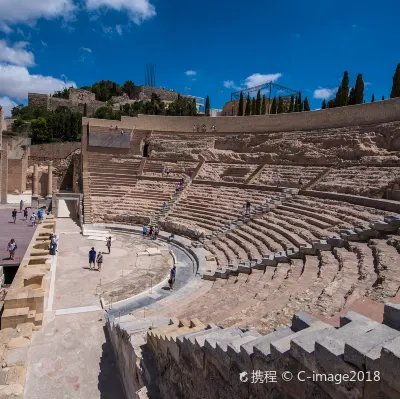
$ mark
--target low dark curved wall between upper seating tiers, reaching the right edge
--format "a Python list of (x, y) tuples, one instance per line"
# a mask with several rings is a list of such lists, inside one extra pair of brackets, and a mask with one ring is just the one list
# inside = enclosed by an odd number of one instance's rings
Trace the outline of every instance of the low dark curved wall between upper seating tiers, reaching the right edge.
[(370, 208), (382, 209), (388, 212), (400, 213), (400, 202), (397, 201), (361, 197), (358, 195), (350, 195), (350, 194), (329, 193), (326, 191), (303, 190), (300, 192), (300, 194), (309, 197), (331, 199), (335, 201), (344, 201), (354, 205), (367, 206)]

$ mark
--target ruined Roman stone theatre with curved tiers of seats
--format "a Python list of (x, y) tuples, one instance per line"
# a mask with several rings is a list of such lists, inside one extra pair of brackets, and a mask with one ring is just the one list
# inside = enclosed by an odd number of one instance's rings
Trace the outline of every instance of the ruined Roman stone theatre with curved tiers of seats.
[[(400, 398), (400, 98), (7, 137), (0, 397)], [(25, 190), (37, 227), (7, 224)]]

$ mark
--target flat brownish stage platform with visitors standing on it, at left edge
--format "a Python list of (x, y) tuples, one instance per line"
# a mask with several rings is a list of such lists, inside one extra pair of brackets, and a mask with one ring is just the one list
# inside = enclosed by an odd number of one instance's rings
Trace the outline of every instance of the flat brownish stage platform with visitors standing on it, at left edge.
[[(14, 208), (18, 211), (15, 224), (11, 217), (11, 212)], [(31, 214), (32, 211), (30, 209), (29, 217)], [(19, 213), (19, 204), (18, 207), (0, 205), (0, 266), (18, 266), (21, 263), (26, 249), (31, 242), (33, 233), (36, 230), (36, 227), (31, 226), (29, 217), (27, 221), (24, 220), (23, 214)], [(7, 244), (11, 238), (14, 238), (17, 243), (14, 260), (9, 259), (10, 255), (7, 251)]]

